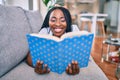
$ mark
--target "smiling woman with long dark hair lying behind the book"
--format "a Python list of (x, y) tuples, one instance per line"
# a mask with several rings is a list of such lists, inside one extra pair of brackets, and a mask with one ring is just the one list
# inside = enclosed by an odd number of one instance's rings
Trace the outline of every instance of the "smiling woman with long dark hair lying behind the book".
[[(40, 34), (49, 34), (56, 37), (61, 37), (63, 34), (72, 31), (72, 21), (70, 12), (63, 7), (53, 7), (50, 9), (45, 17), (43, 25), (40, 29)], [(28, 64), (32, 66), (31, 57), (28, 54), (27, 57)], [(43, 61), (37, 61), (35, 72), (39, 74), (49, 73), (50, 69), (45, 64), (43, 66)], [(66, 73), (74, 75), (79, 73), (79, 66), (77, 61), (72, 61), (71, 64), (66, 68)]]

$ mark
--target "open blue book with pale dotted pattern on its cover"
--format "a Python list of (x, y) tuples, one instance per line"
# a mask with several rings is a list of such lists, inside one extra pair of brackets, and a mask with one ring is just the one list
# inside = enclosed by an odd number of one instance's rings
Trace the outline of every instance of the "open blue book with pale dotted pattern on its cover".
[(94, 35), (86, 31), (69, 32), (61, 38), (44, 34), (27, 34), (33, 66), (37, 60), (48, 64), (51, 71), (59, 74), (72, 60), (80, 68), (87, 67)]

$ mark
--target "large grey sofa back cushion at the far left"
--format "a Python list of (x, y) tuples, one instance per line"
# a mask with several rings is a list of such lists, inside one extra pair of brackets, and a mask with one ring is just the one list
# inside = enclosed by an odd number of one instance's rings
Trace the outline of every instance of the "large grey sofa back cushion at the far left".
[(25, 58), (28, 52), (26, 34), (30, 32), (22, 8), (0, 5), (0, 76)]

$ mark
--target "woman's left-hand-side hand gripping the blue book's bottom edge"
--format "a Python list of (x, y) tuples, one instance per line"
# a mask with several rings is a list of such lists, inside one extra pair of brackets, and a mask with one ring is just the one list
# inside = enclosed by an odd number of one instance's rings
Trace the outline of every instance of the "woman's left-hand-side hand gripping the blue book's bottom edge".
[(35, 66), (35, 72), (38, 74), (46, 74), (50, 72), (50, 69), (48, 68), (47, 64), (43, 65), (43, 61), (37, 61)]

